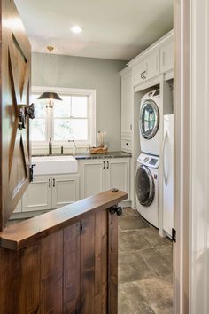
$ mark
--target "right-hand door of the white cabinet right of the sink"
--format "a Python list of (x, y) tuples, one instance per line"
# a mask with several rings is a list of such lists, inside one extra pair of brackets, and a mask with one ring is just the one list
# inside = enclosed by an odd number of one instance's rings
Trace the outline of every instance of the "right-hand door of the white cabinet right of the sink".
[(129, 199), (129, 159), (109, 159), (106, 163), (106, 189), (117, 187), (121, 191), (128, 192)]

